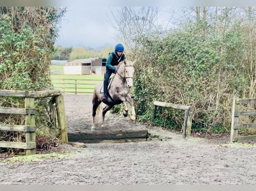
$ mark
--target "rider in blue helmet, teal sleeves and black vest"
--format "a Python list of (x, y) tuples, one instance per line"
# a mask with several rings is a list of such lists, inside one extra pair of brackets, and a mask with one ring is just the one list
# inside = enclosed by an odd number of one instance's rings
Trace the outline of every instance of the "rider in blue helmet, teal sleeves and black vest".
[(122, 44), (117, 44), (115, 46), (115, 51), (109, 53), (108, 59), (106, 62), (106, 73), (104, 78), (104, 96), (103, 101), (107, 100), (107, 91), (108, 91), (108, 81), (112, 73), (116, 74), (116, 66), (125, 59), (124, 46)]

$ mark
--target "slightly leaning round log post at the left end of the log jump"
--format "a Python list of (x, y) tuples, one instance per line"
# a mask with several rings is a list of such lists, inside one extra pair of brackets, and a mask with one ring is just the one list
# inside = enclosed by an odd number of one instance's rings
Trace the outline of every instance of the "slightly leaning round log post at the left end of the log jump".
[(60, 137), (63, 142), (69, 143), (63, 95), (56, 96), (55, 103), (56, 103), (56, 112), (57, 112), (58, 128), (59, 128)]

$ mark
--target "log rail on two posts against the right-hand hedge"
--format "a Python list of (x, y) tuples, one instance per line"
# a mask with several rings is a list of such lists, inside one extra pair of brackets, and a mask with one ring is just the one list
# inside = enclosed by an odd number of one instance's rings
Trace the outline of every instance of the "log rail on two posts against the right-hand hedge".
[(153, 119), (156, 118), (157, 106), (184, 110), (185, 111), (185, 117), (184, 117), (184, 123), (183, 123), (183, 127), (182, 127), (182, 129), (183, 129), (183, 138), (185, 138), (186, 136), (189, 136), (191, 134), (191, 125), (192, 125), (192, 116), (193, 116), (191, 106), (178, 105), (178, 104), (174, 104), (174, 103), (166, 103), (166, 102), (161, 102), (161, 101), (154, 101), (153, 105), (154, 105)]

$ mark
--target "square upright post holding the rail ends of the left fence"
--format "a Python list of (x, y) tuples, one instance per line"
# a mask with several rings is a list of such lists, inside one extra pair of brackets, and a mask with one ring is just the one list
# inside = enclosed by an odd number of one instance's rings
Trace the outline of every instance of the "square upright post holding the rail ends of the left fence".
[[(34, 97), (25, 97), (25, 108), (34, 108), (35, 107), (35, 98)], [(26, 114), (25, 116), (25, 125), (35, 126), (35, 115)], [(35, 132), (25, 132), (26, 143), (35, 142)], [(35, 148), (26, 149), (26, 155), (35, 154)]]

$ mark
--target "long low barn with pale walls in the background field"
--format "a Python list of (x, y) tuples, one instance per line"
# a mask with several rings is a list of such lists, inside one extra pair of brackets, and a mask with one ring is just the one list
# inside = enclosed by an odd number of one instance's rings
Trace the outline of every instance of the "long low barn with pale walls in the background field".
[(63, 64), (63, 73), (65, 75), (103, 75), (106, 72), (106, 57), (77, 59)]

